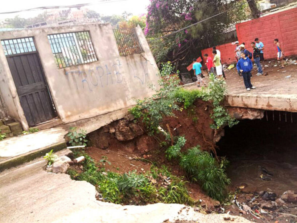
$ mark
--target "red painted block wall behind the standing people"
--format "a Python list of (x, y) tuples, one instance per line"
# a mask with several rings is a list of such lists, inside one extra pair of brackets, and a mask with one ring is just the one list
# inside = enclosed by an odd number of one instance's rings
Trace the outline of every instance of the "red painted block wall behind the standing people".
[[(264, 44), (264, 58), (277, 58), (274, 39), (279, 39), (285, 56), (297, 55), (297, 8), (277, 12), (258, 19), (236, 24), (236, 31), (239, 43), (245, 42), (247, 50), (252, 52), (251, 42), (259, 38)], [(236, 46), (227, 43), (217, 46), (221, 51), (223, 63), (236, 63)], [(213, 58), (212, 48), (201, 51), (203, 56), (207, 53)]]

